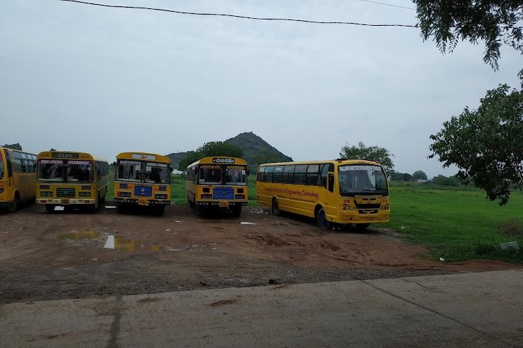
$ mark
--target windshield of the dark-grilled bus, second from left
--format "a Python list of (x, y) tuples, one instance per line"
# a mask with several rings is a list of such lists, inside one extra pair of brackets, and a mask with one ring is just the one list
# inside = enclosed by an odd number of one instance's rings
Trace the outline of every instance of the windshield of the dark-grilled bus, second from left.
[(40, 159), (38, 161), (38, 180), (93, 182), (93, 162)]

